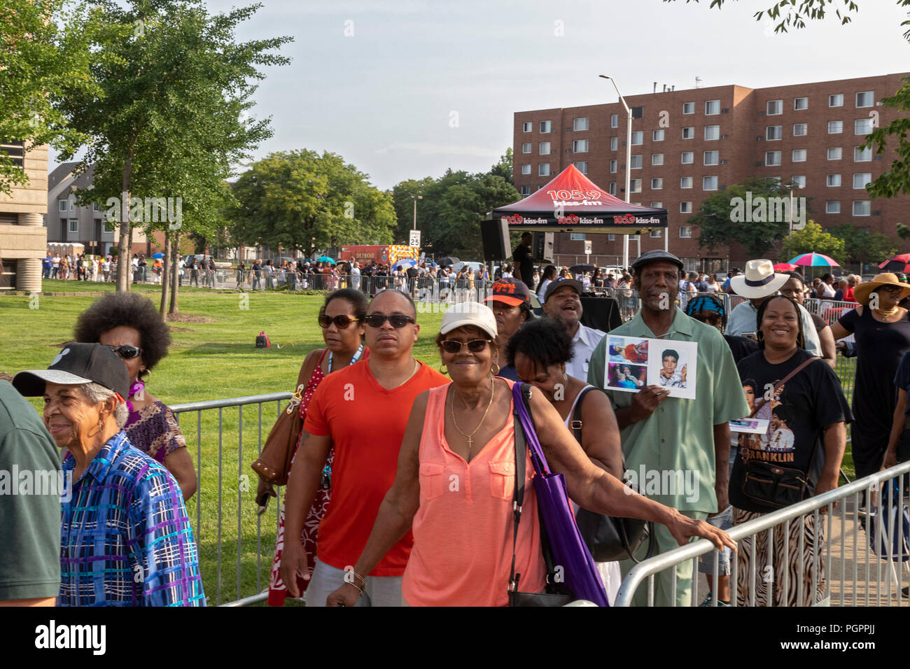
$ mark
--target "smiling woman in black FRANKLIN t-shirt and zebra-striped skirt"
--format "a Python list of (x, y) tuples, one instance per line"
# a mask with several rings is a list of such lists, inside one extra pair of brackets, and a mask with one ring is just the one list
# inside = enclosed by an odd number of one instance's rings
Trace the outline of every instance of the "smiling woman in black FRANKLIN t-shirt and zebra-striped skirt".
[[(845, 423), (853, 420), (834, 371), (822, 360), (813, 360), (813, 356), (801, 348), (803, 325), (795, 300), (783, 295), (766, 299), (758, 309), (757, 319), (759, 350), (740, 360), (736, 367), (743, 385), (748, 383), (751, 388), (758, 389), (752, 417), (767, 420), (768, 430), (764, 434), (739, 434), (739, 452), (730, 475), (730, 502), (735, 525), (779, 508), (746, 494), (749, 489), (745, 487), (745, 474), (751, 460), (806, 472), (810, 481), (809, 494), (836, 488), (846, 446)], [(784, 384), (780, 383), (806, 360), (812, 361)], [(756, 568), (763, 570), (766, 565), (773, 566), (770, 583), (764, 578), (755, 581), (756, 605), (766, 605), (769, 595), (774, 606), (784, 602), (789, 606), (808, 606), (821, 601), (823, 560), (818, 561), (817, 578), (812, 582), (815, 557), (820, 556), (824, 548), (824, 523), (820, 524), (816, 531), (813, 513), (807, 513), (802, 522), (790, 522), (786, 562), (783, 528), (774, 532), (773, 546), (768, 545), (767, 532), (744, 539), (737, 552), (739, 603), (744, 605), (748, 601), (753, 541)], [(797, 601), (801, 533), (804, 534), (804, 598)], [(790, 573), (786, 593), (784, 570)], [(769, 593), (772, 588), (773, 593)]]

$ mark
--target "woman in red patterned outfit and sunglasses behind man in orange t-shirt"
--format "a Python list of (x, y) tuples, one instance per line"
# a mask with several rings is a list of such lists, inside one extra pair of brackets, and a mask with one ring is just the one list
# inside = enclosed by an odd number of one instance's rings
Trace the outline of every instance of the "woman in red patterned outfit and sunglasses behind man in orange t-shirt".
[[(363, 319), (366, 315), (367, 298), (359, 290), (354, 289), (336, 290), (326, 298), (322, 309), (319, 309), (319, 326), (322, 328), (322, 340), (326, 342), (327, 348), (311, 350), (306, 360), (303, 361), (300, 378), (307, 379), (307, 385), (302, 392), (303, 399), (300, 400), (301, 419), (306, 418), (309, 400), (312, 399), (319, 382), (327, 374), (369, 357), (369, 349), (363, 344)], [(296, 451), (295, 447), (295, 453)], [(322, 475), (322, 488), (316, 493), (316, 499), (309, 507), (307, 520), (304, 522), (303, 532), (300, 534), (300, 542), (307, 552), (310, 565), (314, 563), (313, 559), (316, 557), (319, 522), (322, 521), (322, 516), (329, 507), (332, 457), (333, 452), (329, 451), (329, 459), (326, 461), (326, 468)], [(291, 466), (293, 466), (293, 460)], [(275, 559), (272, 561), (272, 571), (268, 579), (269, 606), (283, 606), (288, 593), (285, 584), (281, 582), (284, 521), (285, 509), (282, 504), (281, 515), (278, 519), (278, 536), (275, 541)], [(309, 581), (298, 577), (301, 592), (306, 590), (308, 584)]]

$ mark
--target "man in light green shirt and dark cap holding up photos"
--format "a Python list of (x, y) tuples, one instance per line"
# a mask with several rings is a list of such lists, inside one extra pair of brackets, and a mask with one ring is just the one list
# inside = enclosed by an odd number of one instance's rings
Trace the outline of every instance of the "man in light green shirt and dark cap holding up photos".
[[(610, 335), (695, 341), (698, 360), (694, 400), (668, 397), (670, 389), (659, 385), (644, 386), (638, 392), (606, 390), (616, 411), (626, 469), (647, 497), (703, 520), (728, 506), (727, 423), (747, 416), (749, 406), (723, 335), (674, 306), (682, 261), (666, 251), (649, 251), (632, 263), (632, 272), (642, 309)], [(598, 388), (606, 386), (608, 340), (604, 337), (591, 355), (588, 382)], [(657, 552), (679, 545), (665, 527), (655, 527)], [(646, 547), (642, 545), (636, 557), (641, 559)], [(622, 573), (632, 566), (631, 560), (622, 561)], [(691, 591), (692, 561), (687, 560), (676, 567), (676, 604), (688, 605)], [(642, 584), (635, 603), (647, 603), (647, 592)], [(656, 574), (654, 603), (672, 605), (672, 570)]]

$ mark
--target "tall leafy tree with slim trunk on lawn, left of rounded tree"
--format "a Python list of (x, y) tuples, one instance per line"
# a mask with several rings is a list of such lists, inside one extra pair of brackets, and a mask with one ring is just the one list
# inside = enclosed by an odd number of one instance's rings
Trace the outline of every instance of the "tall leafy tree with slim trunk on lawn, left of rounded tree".
[[(130, 215), (134, 195), (182, 198), (187, 222), (217, 217), (230, 166), (271, 136), (268, 119), (244, 118), (253, 106), (252, 82), (264, 77), (257, 66), (288, 63), (270, 52), (290, 38), (235, 41), (238, 24), (261, 5), (209, 15), (200, 0), (129, 0), (126, 8), (96, 3), (103, 25), (90, 68), (100, 92), (67, 89), (57, 108), (90, 137), (82, 167), (94, 163), (94, 188), (82, 201), (108, 209), (108, 199), (118, 199), (119, 255), (129, 258), (138, 222)], [(118, 263), (116, 280), (118, 290), (129, 289), (128, 263)]]

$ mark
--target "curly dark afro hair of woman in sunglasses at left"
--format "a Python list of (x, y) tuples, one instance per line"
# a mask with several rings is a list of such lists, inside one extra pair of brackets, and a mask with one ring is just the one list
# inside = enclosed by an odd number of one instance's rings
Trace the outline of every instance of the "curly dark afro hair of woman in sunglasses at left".
[(97, 343), (109, 329), (125, 325), (139, 332), (139, 348), (146, 363), (146, 373), (167, 356), (171, 342), (167, 324), (151, 299), (137, 293), (106, 293), (92, 302), (76, 320), (76, 341)]

